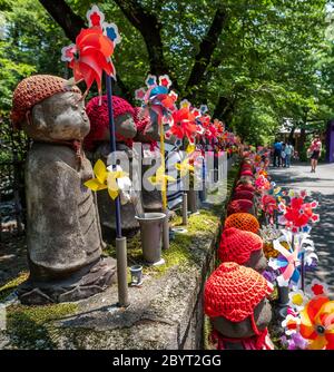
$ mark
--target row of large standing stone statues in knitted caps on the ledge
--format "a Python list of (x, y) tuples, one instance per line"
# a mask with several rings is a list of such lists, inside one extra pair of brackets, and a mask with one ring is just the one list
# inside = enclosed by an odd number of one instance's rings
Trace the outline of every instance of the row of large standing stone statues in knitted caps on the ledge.
[[(12, 123), (32, 139), (26, 164), (29, 280), (20, 287), (26, 304), (78, 301), (105, 291), (116, 280), (116, 262), (101, 258), (104, 238), (115, 234), (107, 192), (92, 194), (90, 160), (107, 161), (109, 130), (106, 97), (85, 107), (81, 91), (59, 77), (37, 75), (13, 94)], [(131, 140), (158, 140), (157, 126), (145, 131), (138, 108), (114, 97), (118, 149), (131, 155)], [(131, 156), (130, 156), (131, 157)], [(97, 198), (98, 197), (98, 202)], [(160, 195), (139, 195), (140, 208), (159, 209)], [(99, 208), (97, 207), (99, 206)], [(136, 232), (134, 205), (124, 206), (122, 227)]]

